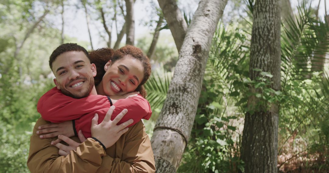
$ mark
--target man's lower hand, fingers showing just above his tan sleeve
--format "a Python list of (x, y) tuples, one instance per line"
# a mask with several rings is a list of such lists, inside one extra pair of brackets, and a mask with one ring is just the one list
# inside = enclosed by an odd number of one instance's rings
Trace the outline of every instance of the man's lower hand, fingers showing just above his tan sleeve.
[[(78, 133), (78, 137), (79, 137), (81, 143), (86, 141), (86, 138), (82, 134), (81, 130)], [(71, 150), (76, 150), (77, 147), (81, 144), (81, 143), (77, 143), (77, 142), (73, 141), (72, 139), (70, 139), (70, 138), (68, 138), (64, 135), (58, 135), (58, 139), (63, 140), (64, 142), (66, 142), (68, 144), (68, 146), (67, 146), (67, 145), (64, 145), (64, 144), (61, 144), (61, 143), (53, 144), (53, 141), (51, 142), (52, 145), (59, 148), (58, 154), (61, 155), (61, 156), (66, 156), (66, 155), (70, 154)]]

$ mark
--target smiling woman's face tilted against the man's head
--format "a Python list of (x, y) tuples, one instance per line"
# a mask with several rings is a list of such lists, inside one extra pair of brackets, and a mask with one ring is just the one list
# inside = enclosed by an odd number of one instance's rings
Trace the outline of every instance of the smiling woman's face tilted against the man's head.
[(144, 68), (142, 63), (125, 55), (122, 59), (106, 63), (102, 84), (107, 96), (123, 95), (135, 91), (143, 80)]

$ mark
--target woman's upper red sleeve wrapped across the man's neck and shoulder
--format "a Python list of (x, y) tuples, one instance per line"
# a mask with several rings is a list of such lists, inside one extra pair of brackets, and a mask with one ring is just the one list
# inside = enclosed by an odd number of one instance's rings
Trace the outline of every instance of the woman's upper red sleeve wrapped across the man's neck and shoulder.
[(89, 95), (88, 97), (75, 99), (64, 95), (54, 87), (41, 96), (37, 109), (44, 120), (61, 123), (78, 119), (84, 114), (110, 106), (107, 96)]

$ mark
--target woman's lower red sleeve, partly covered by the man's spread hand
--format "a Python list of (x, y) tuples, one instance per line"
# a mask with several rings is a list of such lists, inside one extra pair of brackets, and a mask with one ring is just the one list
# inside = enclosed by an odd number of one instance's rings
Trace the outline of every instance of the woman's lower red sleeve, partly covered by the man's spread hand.
[[(114, 103), (115, 109), (112, 114), (111, 120), (114, 120), (114, 118), (123, 110), (127, 109), (128, 112), (126, 115), (123, 116), (123, 118), (119, 121), (118, 125), (121, 123), (124, 123), (130, 119), (134, 120), (134, 123), (131, 125), (128, 125), (128, 127), (135, 125), (138, 123), (141, 119), (148, 120), (151, 115), (151, 106), (149, 102), (143, 98), (141, 95), (138, 95), (137, 97), (129, 98), (129, 99), (120, 99), (117, 100)], [(75, 130), (78, 132), (79, 130), (82, 130), (83, 134), (86, 137), (90, 137), (90, 127), (91, 127), (91, 119), (94, 117), (95, 113), (98, 114), (98, 124), (101, 123), (106, 115), (106, 112), (109, 110), (109, 108), (102, 108), (99, 110), (96, 110), (94, 112), (91, 112), (89, 114), (83, 115), (81, 118), (74, 120)]]

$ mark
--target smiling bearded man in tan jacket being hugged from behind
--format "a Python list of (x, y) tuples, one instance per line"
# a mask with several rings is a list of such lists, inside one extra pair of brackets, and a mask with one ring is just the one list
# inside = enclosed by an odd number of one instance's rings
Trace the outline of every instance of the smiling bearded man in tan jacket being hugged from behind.
[[(88, 52), (76, 44), (63, 44), (55, 51), (62, 51), (50, 64), (56, 76), (56, 86), (60, 86), (65, 95), (74, 98), (83, 98), (89, 93), (97, 94), (93, 85), (96, 68), (90, 64)], [(67, 73), (68, 77), (61, 78), (61, 74), (57, 74), (58, 71)], [(113, 108), (110, 108), (109, 114), (112, 114), (111, 111), (113, 112)], [(116, 121), (122, 116), (123, 114), (118, 115), (118, 119), (115, 118), (113, 121), (105, 117), (100, 125), (97, 125), (97, 121), (93, 122), (91, 132), (95, 138), (88, 138), (65, 157), (60, 156), (58, 148), (50, 144), (55, 138), (40, 139), (36, 134), (40, 125), (49, 123), (40, 118), (31, 136), (27, 162), (30, 171), (155, 172), (151, 143), (142, 122), (133, 125), (127, 131), (124, 128), (127, 123), (116, 125)], [(121, 136), (123, 132), (125, 133)], [(77, 137), (71, 139), (79, 142)], [(113, 141), (116, 143), (113, 144)]]

